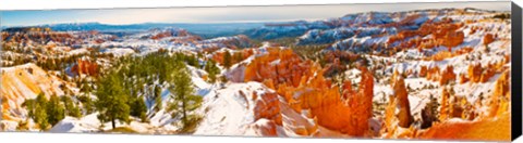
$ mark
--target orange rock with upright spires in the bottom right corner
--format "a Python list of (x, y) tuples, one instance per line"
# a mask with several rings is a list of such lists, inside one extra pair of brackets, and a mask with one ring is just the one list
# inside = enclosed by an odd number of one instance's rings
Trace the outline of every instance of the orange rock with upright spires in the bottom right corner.
[(446, 119), (449, 116), (457, 117), (455, 103), (449, 103), (451, 94), (448, 89), (442, 90), (442, 104), (440, 120), (426, 131), (421, 132), (419, 139), (443, 139), (443, 140), (485, 140), (485, 141), (507, 141), (510, 140), (510, 70), (501, 74), (495, 83), (495, 90), (488, 105), (488, 115), (477, 118), (473, 121), (458, 119)]

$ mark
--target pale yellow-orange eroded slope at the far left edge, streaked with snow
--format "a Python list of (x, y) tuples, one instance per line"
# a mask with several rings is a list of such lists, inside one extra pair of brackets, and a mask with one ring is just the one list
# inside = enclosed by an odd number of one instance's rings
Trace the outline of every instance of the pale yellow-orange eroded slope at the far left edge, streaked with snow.
[(25, 64), (14, 67), (0, 68), (2, 74), (2, 119), (22, 120), (27, 117), (27, 112), (22, 104), (27, 99), (35, 99), (39, 93), (47, 96), (52, 94), (64, 95), (70, 84), (48, 74), (35, 64)]

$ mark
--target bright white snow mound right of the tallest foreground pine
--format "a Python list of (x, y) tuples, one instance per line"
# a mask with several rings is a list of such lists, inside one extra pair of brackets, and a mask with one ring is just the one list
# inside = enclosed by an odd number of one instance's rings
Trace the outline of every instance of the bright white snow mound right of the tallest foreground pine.
[[(216, 89), (205, 95), (202, 106), (204, 117), (194, 134), (242, 135), (254, 120), (253, 91), (258, 94), (269, 90), (258, 82), (231, 83), (226, 89)], [(242, 96), (239, 91), (245, 93)], [(250, 106), (251, 105), (251, 106)]]

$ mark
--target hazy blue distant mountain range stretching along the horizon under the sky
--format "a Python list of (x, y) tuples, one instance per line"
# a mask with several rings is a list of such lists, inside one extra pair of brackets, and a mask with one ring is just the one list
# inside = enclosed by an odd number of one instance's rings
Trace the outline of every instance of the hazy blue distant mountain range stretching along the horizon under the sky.
[[(396, 29), (385, 29), (387, 31), (414, 30), (423, 23), (429, 20), (428, 15), (439, 21), (446, 15), (441, 13), (492, 13), (494, 11), (466, 9), (428, 9), (404, 12), (365, 12), (346, 14), (341, 17), (326, 18), (319, 21), (291, 21), (291, 22), (265, 22), (265, 23), (143, 23), (127, 25), (109, 25), (101, 23), (68, 23), (38, 25), (36, 27), (50, 27), (58, 31), (77, 31), (77, 30), (98, 30), (112, 35), (129, 35), (138, 31), (145, 31), (153, 28), (177, 27), (186, 29), (191, 34), (200, 36), (204, 39), (229, 37), (235, 35), (246, 35), (251, 39), (271, 40), (285, 37), (301, 37), (300, 44), (330, 43), (355, 36), (368, 36), (367, 34), (377, 34), (384, 29), (375, 26), (387, 25)], [(439, 15), (439, 16), (438, 16)], [(394, 26), (396, 25), (396, 26)], [(35, 26), (27, 26), (35, 27)], [(348, 28), (352, 27), (352, 28)], [(1, 27), (19, 28), (19, 27)], [(369, 30), (360, 34), (360, 30)], [(370, 29), (368, 29), (370, 28)], [(373, 29), (374, 28), (374, 29)], [(357, 31), (357, 32), (356, 32)]]

